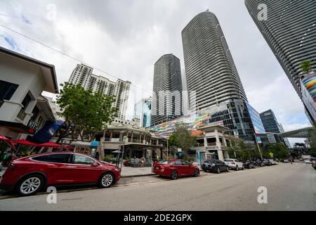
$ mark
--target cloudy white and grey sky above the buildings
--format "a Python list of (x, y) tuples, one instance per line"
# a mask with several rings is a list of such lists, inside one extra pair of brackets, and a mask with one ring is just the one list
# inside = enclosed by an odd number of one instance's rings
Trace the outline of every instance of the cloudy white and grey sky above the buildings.
[(131, 119), (134, 103), (152, 95), (160, 56), (173, 53), (185, 68), (181, 31), (206, 9), (220, 22), (249, 103), (259, 113), (272, 109), (285, 131), (310, 126), (244, 0), (0, 0), (0, 46), (55, 65), (58, 85), (68, 81), (77, 60), (97, 68), (96, 75), (129, 80)]

